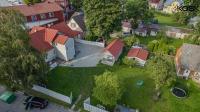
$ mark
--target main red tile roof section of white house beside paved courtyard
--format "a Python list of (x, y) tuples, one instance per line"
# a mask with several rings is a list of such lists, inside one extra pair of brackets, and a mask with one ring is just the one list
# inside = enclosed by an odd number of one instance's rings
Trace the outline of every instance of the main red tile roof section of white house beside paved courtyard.
[(45, 28), (45, 27), (33, 27), (29, 35), (31, 37), (31, 46), (39, 52), (46, 52), (53, 48), (50, 44), (54, 41), (58, 31)]

